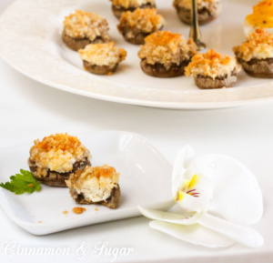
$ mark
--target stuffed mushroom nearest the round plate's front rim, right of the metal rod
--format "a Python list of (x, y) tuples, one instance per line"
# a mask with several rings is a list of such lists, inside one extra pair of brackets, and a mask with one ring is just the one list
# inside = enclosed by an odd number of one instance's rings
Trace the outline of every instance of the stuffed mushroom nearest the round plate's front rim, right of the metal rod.
[(194, 76), (199, 88), (221, 88), (234, 86), (240, 66), (235, 57), (221, 56), (215, 50), (207, 54), (198, 53), (185, 69), (186, 76)]

